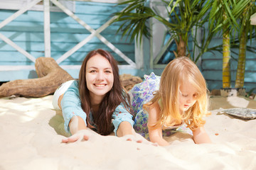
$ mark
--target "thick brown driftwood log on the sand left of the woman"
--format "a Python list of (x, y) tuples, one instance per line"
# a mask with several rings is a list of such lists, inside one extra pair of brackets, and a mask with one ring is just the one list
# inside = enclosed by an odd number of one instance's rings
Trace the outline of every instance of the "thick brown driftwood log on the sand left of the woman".
[(18, 79), (2, 84), (0, 86), (0, 97), (12, 95), (43, 97), (53, 94), (60, 84), (73, 79), (51, 57), (38, 57), (35, 67), (38, 78)]

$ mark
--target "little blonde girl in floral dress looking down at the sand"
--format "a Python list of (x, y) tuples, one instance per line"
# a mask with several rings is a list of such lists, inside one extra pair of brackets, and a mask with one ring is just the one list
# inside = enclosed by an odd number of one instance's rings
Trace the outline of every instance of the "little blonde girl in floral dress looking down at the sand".
[(196, 144), (210, 142), (203, 128), (203, 117), (208, 115), (206, 80), (188, 57), (172, 60), (161, 77), (151, 73), (129, 94), (137, 114), (134, 129), (151, 142), (169, 145), (163, 132), (171, 135), (188, 128)]

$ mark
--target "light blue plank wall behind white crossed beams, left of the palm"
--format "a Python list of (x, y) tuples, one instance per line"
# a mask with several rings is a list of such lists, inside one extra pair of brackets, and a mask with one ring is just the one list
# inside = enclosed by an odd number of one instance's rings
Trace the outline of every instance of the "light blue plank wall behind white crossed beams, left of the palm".
[[(85, 21), (93, 29), (100, 28), (108, 21), (114, 12), (121, 11), (124, 6), (116, 4), (93, 3), (93, 2), (75, 2), (75, 15)], [(0, 21), (11, 16), (16, 11), (0, 10)], [(114, 23), (100, 33), (108, 41), (121, 50), (134, 61), (134, 43), (129, 43), (129, 38), (121, 38), (121, 33), (117, 33), (120, 23)], [(70, 18), (63, 12), (50, 12), (50, 36), (51, 36), (51, 57), (55, 60), (65, 54), (68, 50), (84, 40), (90, 32)], [(44, 57), (44, 36), (43, 36), (43, 11), (26, 11), (18, 16), (14, 21), (0, 29), (0, 33), (14, 41), (17, 45), (26, 50), (33, 57)], [(98, 38), (92, 38), (90, 42), (60, 63), (60, 65), (79, 65), (85, 55), (91, 50), (102, 48), (110, 50)], [(119, 64), (126, 62), (112, 52)], [(20, 52), (6, 44), (0, 39), (0, 67), (1, 65), (34, 65)], [(67, 70), (74, 78), (78, 78), (78, 70)], [(35, 70), (26, 69), (18, 71), (0, 72), (0, 81), (11, 81), (14, 79), (36, 78)]]

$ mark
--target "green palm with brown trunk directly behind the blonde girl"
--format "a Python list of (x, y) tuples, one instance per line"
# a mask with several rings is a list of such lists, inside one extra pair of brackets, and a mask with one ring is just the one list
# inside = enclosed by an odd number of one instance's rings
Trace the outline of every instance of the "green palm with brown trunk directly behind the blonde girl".
[[(124, 11), (115, 13), (117, 19), (114, 22), (124, 22), (119, 28), (119, 30), (123, 31), (122, 35), (131, 35), (130, 40), (136, 39), (140, 44), (143, 35), (146, 38), (151, 36), (150, 28), (147, 26), (146, 21), (149, 18), (155, 18), (166, 26), (172, 38), (176, 41), (177, 51), (174, 52), (176, 57), (190, 56), (189, 53), (186, 54), (188, 51), (188, 35), (193, 28), (200, 28), (203, 23), (206, 23), (206, 15), (211, 7), (210, 0), (178, 0), (175, 2), (174, 0), (162, 0), (161, 2), (166, 6), (169, 20), (166, 20), (166, 18), (151, 9), (148, 6), (148, 1), (129, 0), (119, 4), (125, 4), (127, 7)], [(193, 58), (193, 60), (197, 61), (199, 57)]]

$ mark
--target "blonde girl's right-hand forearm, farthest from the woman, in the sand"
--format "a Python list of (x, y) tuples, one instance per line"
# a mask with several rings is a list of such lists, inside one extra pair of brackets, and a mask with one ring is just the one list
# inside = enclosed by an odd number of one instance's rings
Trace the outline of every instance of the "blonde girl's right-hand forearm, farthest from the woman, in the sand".
[(192, 132), (193, 132), (193, 140), (196, 144), (211, 143), (210, 137), (208, 136), (203, 126), (197, 128), (196, 130), (192, 130)]

